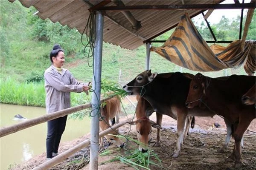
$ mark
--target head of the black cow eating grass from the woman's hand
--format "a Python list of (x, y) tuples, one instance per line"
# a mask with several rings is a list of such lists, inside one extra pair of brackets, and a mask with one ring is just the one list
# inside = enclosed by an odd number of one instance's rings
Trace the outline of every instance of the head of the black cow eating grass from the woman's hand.
[(123, 86), (123, 89), (133, 95), (141, 95), (142, 88), (154, 80), (157, 73), (151, 73), (151, 70), (146, 70), (140, 73), (135, 79)]

